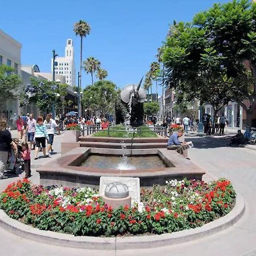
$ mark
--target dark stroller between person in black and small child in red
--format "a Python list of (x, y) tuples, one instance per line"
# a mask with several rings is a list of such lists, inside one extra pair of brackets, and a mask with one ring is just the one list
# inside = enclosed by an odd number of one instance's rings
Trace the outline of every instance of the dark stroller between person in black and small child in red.
[(20, 168), (23, 166), (22, 146), (20, 146), (18, 139), (13, 139), (11, 144), (11, 154), (8, 159), (9, 167), (7, 169), (13, 172), (13, 174), (19, 175)]

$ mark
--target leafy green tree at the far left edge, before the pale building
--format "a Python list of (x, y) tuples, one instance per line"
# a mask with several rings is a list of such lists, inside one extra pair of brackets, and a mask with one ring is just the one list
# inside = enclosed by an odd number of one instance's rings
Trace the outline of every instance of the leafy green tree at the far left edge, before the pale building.
[(14, 68), (0, 65), (0, 110), (2, 112), (5, 102), (17, 96), (20, 78), (14, 74)]

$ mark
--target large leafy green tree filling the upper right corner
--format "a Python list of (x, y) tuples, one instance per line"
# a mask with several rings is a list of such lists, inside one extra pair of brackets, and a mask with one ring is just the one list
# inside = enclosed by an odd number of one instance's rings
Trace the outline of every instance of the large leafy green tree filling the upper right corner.
[(213, 106), (224, 105), (228, 98), (237, 101), (251, 125), (256, 107), (255, 20), (256, 3), (241, 0), (214, 4), (195, 15), (193, 23), (174, 24), (163, 56), (167, 81), (181, 89), (187, 86), (186, 92), (189, 87)]

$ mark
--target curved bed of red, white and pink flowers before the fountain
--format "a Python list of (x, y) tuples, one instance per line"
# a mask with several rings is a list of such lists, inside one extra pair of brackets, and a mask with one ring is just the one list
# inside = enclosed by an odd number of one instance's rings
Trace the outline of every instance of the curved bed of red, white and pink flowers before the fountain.
[(0, 207), (11, 218), (75, 236), (162, 234), (196, 228), (229, 213), (236, 193), (230, 181), (171, 180), (141, 190), (142, 202), (112, 209), (91, 188), (43, 188), (23, 179), (8, 185)]

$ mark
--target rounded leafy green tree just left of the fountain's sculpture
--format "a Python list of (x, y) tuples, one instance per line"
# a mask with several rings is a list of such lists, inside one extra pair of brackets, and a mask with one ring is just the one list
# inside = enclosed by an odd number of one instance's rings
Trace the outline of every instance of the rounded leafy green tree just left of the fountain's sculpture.
[(82, 101), (85, 108), (100, 110), (105, 116), (107, 113), (114, 112), (116, 94), (113, 82), (97, 81), (84, 89)]

